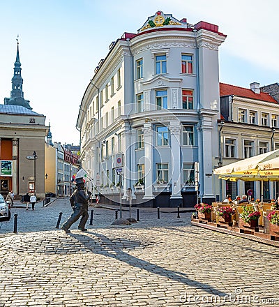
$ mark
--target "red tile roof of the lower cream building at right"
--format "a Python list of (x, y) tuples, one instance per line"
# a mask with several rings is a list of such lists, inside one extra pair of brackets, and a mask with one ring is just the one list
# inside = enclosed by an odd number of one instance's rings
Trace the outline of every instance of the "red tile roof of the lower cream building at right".
[(225, 84), (220, 82), (220, 96), (235, 95), (245, 98), (257, 99), (262, 101), (268, 101), (269, 103), (278, 102), (269, 95), (269, 93), (254, 93), (251, 89), (246, 89), (245, 87), (236, 87), (235, 85)]

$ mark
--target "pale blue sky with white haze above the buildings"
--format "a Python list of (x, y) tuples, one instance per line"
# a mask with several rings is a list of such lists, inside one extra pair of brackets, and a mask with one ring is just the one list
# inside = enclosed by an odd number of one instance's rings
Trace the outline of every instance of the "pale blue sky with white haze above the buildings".
[(75, 124), (94, 68), (113, 40), (137, 33), (157, 10), (227, 34), (220, 82), (279, 82), (278, 9), (277, 0), (0, 0), (0, 103), (10, 97), (19, 34), (24, 98), (50, 121), (53, 141), (79, 144)]

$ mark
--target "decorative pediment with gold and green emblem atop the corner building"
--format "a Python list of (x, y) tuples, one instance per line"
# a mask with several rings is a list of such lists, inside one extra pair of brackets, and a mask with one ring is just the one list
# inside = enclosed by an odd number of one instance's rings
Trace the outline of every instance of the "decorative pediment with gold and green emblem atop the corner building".
[[(179, 20), (172, 17), (172, 14), (164, 14), (161, 10), (155, 13), (154, 16), (148, 17), (148, 20), (144, 23), (142, 28), (138, 30), (138, 33), (147, 31), (150, 29), (156, 29), (158, 27), (181, 27), (182, 24)], [(187, 27), (186, 24), (183, 24), (183, 27)]]

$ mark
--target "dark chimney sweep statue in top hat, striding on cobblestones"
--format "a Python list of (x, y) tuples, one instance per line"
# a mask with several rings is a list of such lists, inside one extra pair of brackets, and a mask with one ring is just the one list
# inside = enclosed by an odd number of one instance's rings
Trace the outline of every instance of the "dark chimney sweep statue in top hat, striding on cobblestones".
[(84, 191), (84, 181), (82, 178), (75, 179), (76, 188), (72, 195), (70, 195), (70, 205), (73, 207), (73, 214), (68, 218), (66, 223), (63, 223), (62, 230), (66, 233), (70, 232), (69, 228), (75, 223), (81, 216), (78, 229), (82, 232), (86, 232), (85, 224), (89, 218), (88, 214), (88, 201), (91, 197), (91, 192), (86, 195)]

